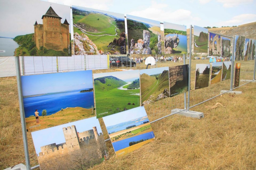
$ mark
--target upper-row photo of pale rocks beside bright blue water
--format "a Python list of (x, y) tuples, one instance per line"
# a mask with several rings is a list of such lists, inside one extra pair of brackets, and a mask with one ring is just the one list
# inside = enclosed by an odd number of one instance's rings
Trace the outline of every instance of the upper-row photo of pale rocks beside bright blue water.
[(165, 54), (187, 53), (187, 27), (164, 22)]

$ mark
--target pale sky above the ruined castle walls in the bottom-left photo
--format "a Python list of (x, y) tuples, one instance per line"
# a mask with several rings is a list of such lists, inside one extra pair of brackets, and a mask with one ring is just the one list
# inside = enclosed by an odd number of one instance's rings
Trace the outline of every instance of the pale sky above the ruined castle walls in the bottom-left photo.
[(64, 137), (62, 128), (66, 128), (72, 125), (76, 126), (76, 131), (79, 133), (84, 132), (86, 130), (91, 130), (92, 127), (95, 127), (95, 126), (97, 128), (98, 134), (100, 135), (100, 133), (102, 133), (100, 123), (98, 119), (96, 119), (96, 117), (74, 121), (71, 123), (54, 126), (52, 128), (31, 132), (36, 153), (39, 154), (39, 152), (41, 152), (42, 146), (50, 145), (52, 143), (56, 143), (56, 145), (60, 143), (64, 143), (65, 137)]

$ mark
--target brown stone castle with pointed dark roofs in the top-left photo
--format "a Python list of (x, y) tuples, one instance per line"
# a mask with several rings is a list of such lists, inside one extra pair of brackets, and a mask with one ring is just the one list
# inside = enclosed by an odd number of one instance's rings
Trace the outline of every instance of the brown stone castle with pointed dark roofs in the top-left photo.
[(37, 21), (34, 24), (34, 40), (37, 49), (40, 49), (41, 46), (55, 51), (68, 49), (70, 44), (68, 21), (65, 19), (62, 24), (62, 18), (55, 13), (51, 6), (42, 19), (43, 24), (38, 24)]

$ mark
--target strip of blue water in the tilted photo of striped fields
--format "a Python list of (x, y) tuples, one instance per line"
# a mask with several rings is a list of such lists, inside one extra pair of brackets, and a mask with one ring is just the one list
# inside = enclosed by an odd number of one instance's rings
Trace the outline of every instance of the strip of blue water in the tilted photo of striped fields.
[(144, 140), (151, 139), (151, 138), (154, 138), (154, 137), (155, 137), (154, 132), (150, 131), (150, 132), (147, 132), (145, 134), (130, 137), (130, 138), (127, 138), (127, 139), (124, 139), (124, 140), (121, 140), (121, 141), (112, 142), (112, 145), (114, 147), (115, 152), (117, 152), (121, 149), (129, 147), (130, 142), (139, 141), (139, 140), (142, 140), (142, 139), (144, 139)]

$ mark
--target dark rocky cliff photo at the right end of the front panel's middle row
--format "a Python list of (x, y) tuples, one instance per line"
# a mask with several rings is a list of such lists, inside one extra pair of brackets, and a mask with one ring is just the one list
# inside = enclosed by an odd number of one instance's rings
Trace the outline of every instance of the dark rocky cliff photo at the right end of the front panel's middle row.
[(170, 97), (188, 91), (188, 64), (169, 67)]

